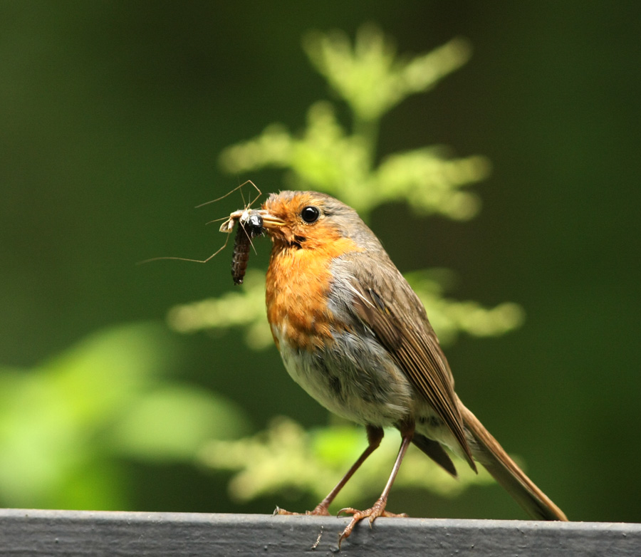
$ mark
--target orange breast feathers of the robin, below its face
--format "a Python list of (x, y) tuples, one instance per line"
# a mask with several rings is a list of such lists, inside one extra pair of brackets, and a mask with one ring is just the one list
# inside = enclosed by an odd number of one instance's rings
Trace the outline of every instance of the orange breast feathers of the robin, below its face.
[(266, 279), (267, 318), (276, 345), (278, 337), (291, 348), (312, 350), (331, 343), (331, 330), (341, 330), (328, 308), (335, 257), (362, 251), (348, 238), (339, 238), (313, 249), (276, 242)]

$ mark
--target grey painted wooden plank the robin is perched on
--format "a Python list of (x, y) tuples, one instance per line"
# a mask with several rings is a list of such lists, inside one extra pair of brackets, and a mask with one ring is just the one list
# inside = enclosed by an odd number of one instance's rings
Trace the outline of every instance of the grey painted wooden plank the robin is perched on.
[[(333, 555), (347, 523), (347, 518), (317, 516), (0, 509), (0, 556)], [(360, 524), (341, 553), (638, 556), (641, 524), (378, 519), (372, 529)]]

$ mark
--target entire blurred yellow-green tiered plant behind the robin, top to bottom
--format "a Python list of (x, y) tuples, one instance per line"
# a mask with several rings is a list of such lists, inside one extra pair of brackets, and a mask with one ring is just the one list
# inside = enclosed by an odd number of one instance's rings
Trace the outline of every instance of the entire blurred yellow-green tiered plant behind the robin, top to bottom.
[[(417, 214), (442, 214), (469, 219), (480, 204), (464, 187), (489, 173), (489, 162), (478, 155), (447, 157), (442, 147), (420, 147), (377, 160), (380, 120), (407, 98), (432, 88), (447, 73), (469, 58), (469, 45), (454, 39), (431, 53), (400, 60), (382, 33), (363, 27), (352, 47), (343, 33), (311, 33), (304, 41), (313, 65), (348, 105), (353, 129), (338, 121), (333, 105), (314, 104), (307, 127), (293, 135), (282, 125), (269, 125), (252, 140), (224, 150), (225, 170), (239, 174), (266, 167), (286, 171), (283, 181), (293, 189), (319, 189), (335, 194), (367, 219), (375, 207), (402, 201)], [(430, 320), (444, 342), (458, 333), (501, 335), (520, 325), (521, 308), (503, 303), (483, 308), (476, 302), (444, 298), (447, 271), (417, 271), (407, 276), (424, 302)], [(264, 274), (252, 271), (243, 288), (195, 303), (172, 308), (170, 326), (181, 332), (240, 327), (250, 348), (272, 344), (264, 308)], [(380, 480), (390, 470), (397, 436), (377, 451), (345, 488), (341, 496), (377, 495)], [(273, 492), (304, 491), (319, 499), (348, 469), (365, 446), (360, 430), (325, 427), (305, 433), (288, 420), (277, 420), (259, 435), (235, 441), (213, 441), (200, 452), (202, 462), (214, 469), (235, 472), (231, 495), (241, 501)], [(367, 472), (365, 472), (367, 470)], [(411, 452), (397, 484), (454, 494), (474, 482), (486, 481), (462, 467), (454, 482), (424, 455)]]

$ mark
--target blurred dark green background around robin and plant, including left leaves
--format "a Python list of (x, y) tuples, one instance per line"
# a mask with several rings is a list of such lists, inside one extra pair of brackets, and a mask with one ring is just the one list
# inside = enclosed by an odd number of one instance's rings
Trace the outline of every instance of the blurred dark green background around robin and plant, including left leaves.
[[(182, 336), (163, 325), (171, 306), (231, 290), (231, 251), (205, 266), (135, 262), (204, 259), (221, 243), (204, 222), (239, 200), (194, 205), (248, 178), (263, 192), (282, 187), (278, 172), (224, 175), (219, 153), (273, 121), (301, 129), (308, 106), (331, 98), (303, 33), (353, 36), (374, 21), (400, 53), (459, 35), (474, 48), (434, 91), (387, 115), (380, 151), (444, 144), (486, 155), (481, 213), (424, 220), (390, 204), (370, 219), (402, 271), (454, 269), (453, 296), (525, 309), (514, 333), (447, 349), (457, 392), (570, 519), (640, 521), (640, 16), (633, 1), (0, 1), (0, 505), (283, 504), (229, 499), (229, 475), (183, 458), (189, 440), (146, 438), (138, 458), (137, 425), (150, 421), (162, 437), (189, 415), (205, 424), (196, 444), (276, 415), (306, 427), (328, 417), (275, 349), (246, 350), (237, 331)], [(252, 265), (264, 266), (266, 242), (259, 251)], [(83, 366), (94, 375), (81, 388)], [(125, 384), (143, 403), (127, 405)], [(71, 439), (65, 425), (78, 416)], [(81, 465), (68, 449), (80, 442)], [(118, 489), (87, 499), (95, 486)], [(390, 510), (413, 516), (521, 517), (498, 486), (392, 498)]]

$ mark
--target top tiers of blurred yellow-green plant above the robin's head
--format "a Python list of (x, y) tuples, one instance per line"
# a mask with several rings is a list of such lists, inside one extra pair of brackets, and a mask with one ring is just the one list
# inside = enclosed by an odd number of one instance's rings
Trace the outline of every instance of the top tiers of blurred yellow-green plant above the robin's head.
[(259, 137), (224, 150), (224, 169), (238, 174), (283, 168), (288, 187), (335, 194), (365, 219), (390, 201), (407, 202), (419, 214), (473, 217), (478, 198), (462, 188), (489, 174), (486, 158), (451, 158), (442, 147), (423, 147), (387, 155), (375, 165), (382, 116), (462, 66), (470, 54), (467, 42), (455, 38), (407, 61), (395, 58), (390, 41), (372, 26), (361, 28), (353, 48), (340, 32), (311, 33), (304, 42), (314, 66), (347, 103), (353, 129), (348, 132), (333, 105), (321, 101), (310, 108), (300, 136), (269, 125)]

